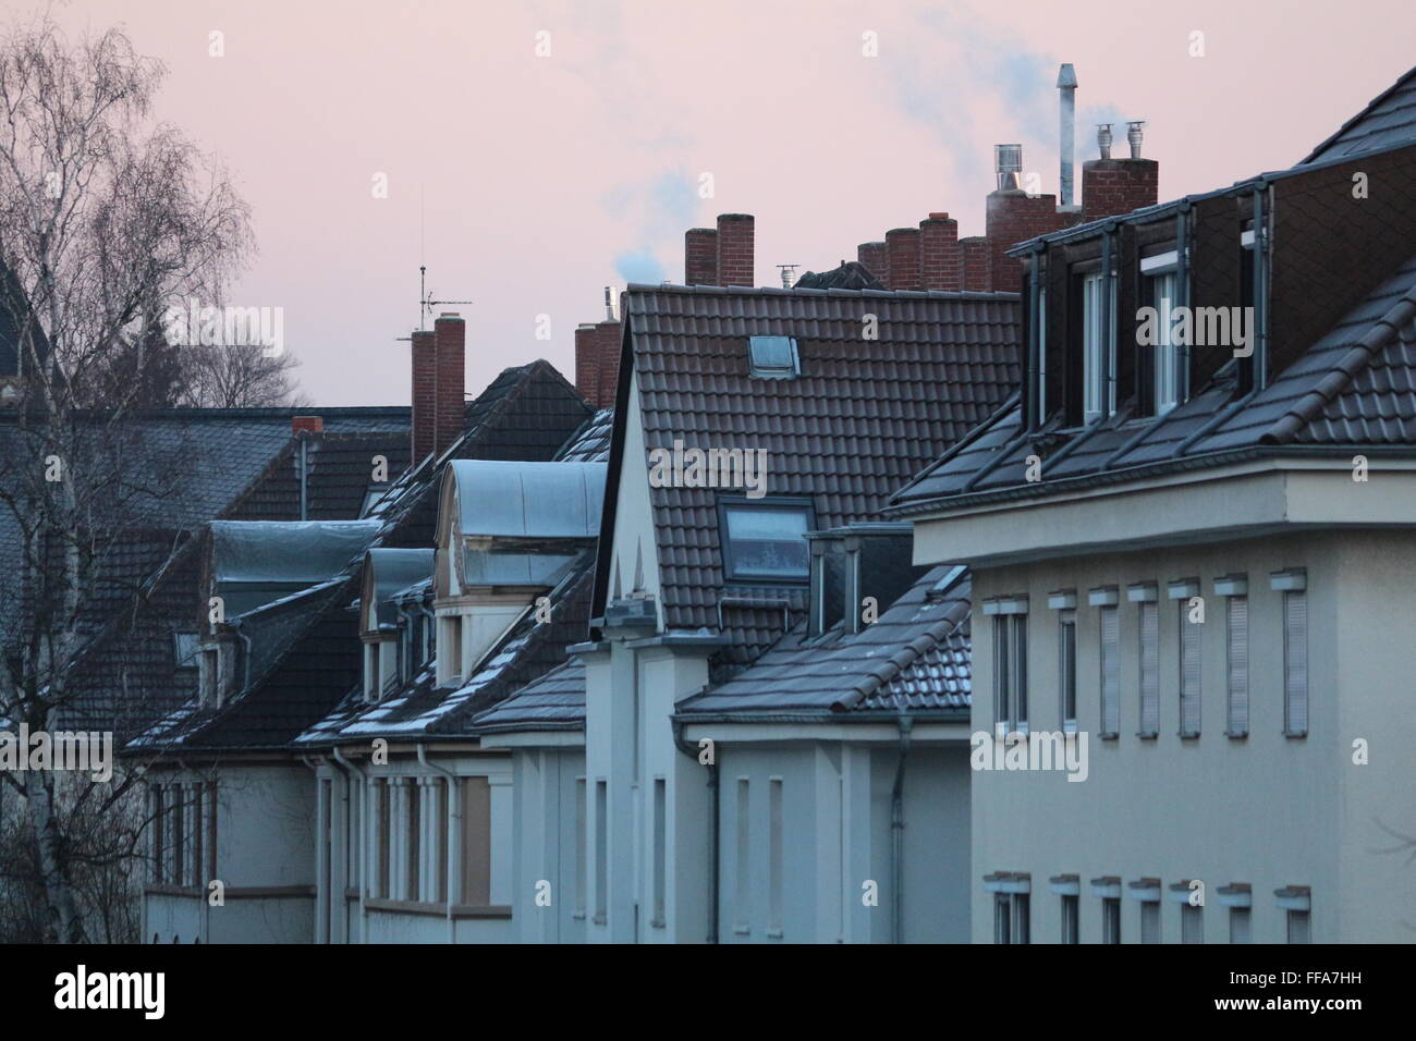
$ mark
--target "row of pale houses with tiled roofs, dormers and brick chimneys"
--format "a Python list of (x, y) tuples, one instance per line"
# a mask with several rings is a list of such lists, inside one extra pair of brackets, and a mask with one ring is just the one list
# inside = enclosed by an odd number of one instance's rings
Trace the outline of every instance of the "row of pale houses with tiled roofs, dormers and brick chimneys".
[(1107, 146), (293, 418), (109, 652), (143, 936), (1409, 940), (1416, 71), (1211, 193)]

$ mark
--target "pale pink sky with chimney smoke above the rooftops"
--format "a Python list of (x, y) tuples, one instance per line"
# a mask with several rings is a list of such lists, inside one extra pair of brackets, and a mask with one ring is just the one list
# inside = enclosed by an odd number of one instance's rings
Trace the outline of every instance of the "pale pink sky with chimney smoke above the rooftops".
[[(6, 0), (6, 11), (35, 10)], [(231, 169), (261, 252), (232, 302), (285, 309), (317, 404), (406, 404), (418, 265), (473, 299), (467, 389), (545, 357), (602, 286), (681, 282), (683, 232), (755, 214), (758, 283), (947, 210), (983, 232), (993, 144), (1056, 191), (1056, 91), (1150, 120), (1161, 198), (1301, 159), (1412, 64), (1409, 0), (1328, 3), (58, 3), (170, 69), (159, 116)], [(210, 33), (225, 55), (208, 55)], [(1189, 57), (1192, 31), (1205, 55)], [(535, 55), (537, 33), (551, 54)], [(862, 34), (878, 34), (878, 57)], [(1124, 127), (1117, 127), (1124, 153)], [(375, 173), (388, 198), (374, 198)], [(698, 197), (711, 173), (715, 197)], [(421, 211), (425, 214), (421, 231)], [(538, 316), (551, 339), (538, 340)]]

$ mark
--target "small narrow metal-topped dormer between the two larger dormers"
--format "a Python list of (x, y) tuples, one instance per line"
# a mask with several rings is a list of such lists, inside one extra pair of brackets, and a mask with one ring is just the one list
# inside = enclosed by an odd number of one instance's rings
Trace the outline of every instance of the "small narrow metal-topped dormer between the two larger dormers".
[(432, 550), (370, 550), (360, 592), (360, 640), (364, 644), (364, 700), (379, 701), (389, 686), (413, 677), (419, 632), (428, 619), (409, 613), (402, 593), (433, 574)]

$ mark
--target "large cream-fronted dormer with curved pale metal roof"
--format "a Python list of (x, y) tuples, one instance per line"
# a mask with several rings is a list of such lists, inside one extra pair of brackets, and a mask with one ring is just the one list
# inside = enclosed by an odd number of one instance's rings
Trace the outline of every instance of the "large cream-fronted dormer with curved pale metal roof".
[(443, 474), (433, 579), (438, 683), (470, 676), (593, 544), (605, 463), (459, 459)]

